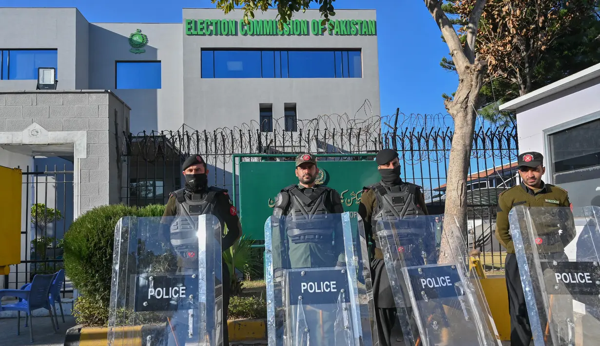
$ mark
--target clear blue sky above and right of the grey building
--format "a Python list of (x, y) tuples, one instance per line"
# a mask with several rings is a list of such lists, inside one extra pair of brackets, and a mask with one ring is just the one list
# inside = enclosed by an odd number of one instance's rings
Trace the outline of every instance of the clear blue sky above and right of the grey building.
[[(422, 1), (337, 0), (337, 8), (375, 8), (382, 115), (446, 114), (442, 93), (458, 85), (439, 65), (448, 53)], [(208, 0), (0, 0), (0, 7), (77, 7), (89, 22), (182, 22), (184, 7), (214, 8)]]

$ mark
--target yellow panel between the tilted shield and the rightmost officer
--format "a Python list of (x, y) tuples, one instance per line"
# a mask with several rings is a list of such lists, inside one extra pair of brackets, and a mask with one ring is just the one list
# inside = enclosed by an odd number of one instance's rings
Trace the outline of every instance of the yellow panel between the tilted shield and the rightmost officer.
[(511, 339), (511, 317), (508, 314), (508, 291), (504, 276), (480, 278), (481, 288), (490, 306), (491, 317), (494, 318), (496, 329), (501, 340)]

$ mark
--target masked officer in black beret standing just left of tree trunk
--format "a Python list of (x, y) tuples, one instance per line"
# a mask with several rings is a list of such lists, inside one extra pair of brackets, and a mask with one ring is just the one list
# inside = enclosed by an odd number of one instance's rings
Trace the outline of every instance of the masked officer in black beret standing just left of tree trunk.
[(375, 243), (374, 258), (371, 261), (375, 319), (379, 344), (389, 346), (397, 311), (383, 261), (382, 244), (376, 234), (377, 221), (385, 216), (404, 217), (428, 213), (421, 188), (413, 183), (403, 182), (400, 178), (400, 161), (396, 151), (383, 149), (377, 153), (375, 161), (381, 181), (364, 188), (358, 213), (364, 221), (365, 233), (371, 234)]

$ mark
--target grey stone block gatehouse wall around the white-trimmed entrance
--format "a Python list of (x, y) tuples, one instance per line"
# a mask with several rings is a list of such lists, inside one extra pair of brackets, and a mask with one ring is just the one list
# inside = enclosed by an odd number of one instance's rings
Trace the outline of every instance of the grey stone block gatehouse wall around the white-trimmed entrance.
[(50, 136), (55, 139), (71, 136), (68, 133), (85, 133), (85, 153), (74, 158), (77, 176), (73, 186), (74, 192), (79, 191), (74, 193), (74, 205), (79, 206), (74, 210), (77, 217), (93, 207), (121, 201), (121, 150), (124, 133), (129, 131), (129, 112), (127, 104), (110, 91), (1, 92), (0, 138), (13, 143), (0, 145), (28, 145), (23, 142), (26, 136), (20, 133), (34, 124), (55, 135)]

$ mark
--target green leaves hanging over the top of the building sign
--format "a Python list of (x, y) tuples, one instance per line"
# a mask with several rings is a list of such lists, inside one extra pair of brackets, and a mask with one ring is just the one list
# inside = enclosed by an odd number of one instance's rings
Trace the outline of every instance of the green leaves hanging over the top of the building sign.
[[(302, 11), (303, 13), (310, 7), (311, 4), (319, 5), (319, 12), (323, 17), (321, 25), (329, 23), (329, 16), (335, 16), (335, 9), (333, 2), (335, 0), (211, 0), (213, 4), (217, 4), (217, 8), (220, 8), (225, 14), (233, 11), (236, 7), (241, 6), (241, 10), (244, 11), (244, 22), (248, 23), (249, 19), (254, 18), (256, 11), (266, 11), (269, 8), (277, 8), (277, 17), (279, 20), (279, 28), (283, 28), (283, 23), (287, 23), (295, 12)], [(331, 27), (332, 23), (329, 23)]]

